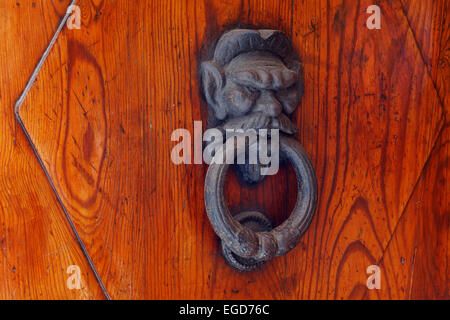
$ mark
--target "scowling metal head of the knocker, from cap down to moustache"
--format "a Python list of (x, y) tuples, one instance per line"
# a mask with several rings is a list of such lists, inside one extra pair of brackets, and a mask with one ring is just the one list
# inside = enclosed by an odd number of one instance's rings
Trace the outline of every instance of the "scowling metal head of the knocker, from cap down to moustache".
[(279, 129), (293, 134), (288, 116), (303, 94), (301, 63), (286, 35), (235, 29), (219, 39), (201, 65), (210, 124), (219, 129)]

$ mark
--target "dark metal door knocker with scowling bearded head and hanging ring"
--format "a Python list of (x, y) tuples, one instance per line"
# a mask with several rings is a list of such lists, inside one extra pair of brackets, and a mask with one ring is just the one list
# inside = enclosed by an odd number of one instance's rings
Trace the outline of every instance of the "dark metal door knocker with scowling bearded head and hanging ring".
[[(227, 262), (239, 270), (254, 270), (298, 244), (316, 207), (314, 169), (299, 142), (290, 137), (297, 128), (288, 118), (303, 95), (301, 62), (284, 33), (235, 29), (221, 36), (213, 59), (203, 62), (200, 72), (210, 111), (208, 125), (226, 132), (226, 142), (233, 139), (231, 144), (215, 146), (205, 181), (206, 211), (222, 240)], [(251, 150), (262, 149), (258, 139), (265, 136), (273, 142), (273, 132), (278, 131), (278, 144), (271, 143), (268, 153), (278, 152), (282, 160), (290, 161), (297, 176), (298, 193), (289, 218), (273, 228), (260, 212), (241, 212), (233, 217), (225, 202), (224, 184), (232, 163), (228, 154), (234, 159), (243, 153), (246, 162), (233, 166), (244, 181), (260, 182), (264, 178), (262, 172), (270, 164), (259, 160), (250, 163), (249, 155)], [(234, 141), (240, 135), (247, 139), (244, 144)], [(214, 145), (213, 141), (210, 145)], [(245, 154), (247, 149), (249, 155)]]

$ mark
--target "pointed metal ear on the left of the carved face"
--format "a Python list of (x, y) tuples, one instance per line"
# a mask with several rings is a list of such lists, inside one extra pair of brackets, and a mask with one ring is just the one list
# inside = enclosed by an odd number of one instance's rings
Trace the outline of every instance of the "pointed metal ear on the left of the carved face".
[(221, 108), (217, 102), (218, 90), (222, 89), (225, 83), (225, 76), (222, 68), (213, 61), (203, 62), (200, 68), (203, 92), (206, 101), (208, 102), (208, 106), (212, 109), (217, 119), (223, 120), (227, 116), (227, 111), (225, 108)]

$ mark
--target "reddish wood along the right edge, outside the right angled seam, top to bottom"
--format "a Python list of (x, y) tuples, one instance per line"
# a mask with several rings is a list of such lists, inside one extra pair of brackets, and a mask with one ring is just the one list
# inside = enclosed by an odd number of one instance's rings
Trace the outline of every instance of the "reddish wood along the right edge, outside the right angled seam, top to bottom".
[(402, 2), (417, 45), (442, 101), (446, 125), (383, 254), (384, 270), (389, 270), (384, 277), (392, 283), (384, 297), (449, 299), (448, 1)]

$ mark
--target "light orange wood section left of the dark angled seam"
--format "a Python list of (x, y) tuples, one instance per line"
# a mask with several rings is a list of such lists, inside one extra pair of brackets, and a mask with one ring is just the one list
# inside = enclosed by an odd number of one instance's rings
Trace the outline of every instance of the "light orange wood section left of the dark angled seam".
[[(14, 104), (68, 1), (0, 1), (0, 299), (104, 295), (25, 134)], [(67, 268), (81, 270), (69, 290)]]

